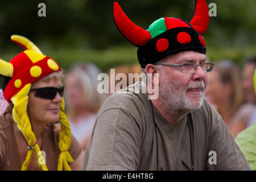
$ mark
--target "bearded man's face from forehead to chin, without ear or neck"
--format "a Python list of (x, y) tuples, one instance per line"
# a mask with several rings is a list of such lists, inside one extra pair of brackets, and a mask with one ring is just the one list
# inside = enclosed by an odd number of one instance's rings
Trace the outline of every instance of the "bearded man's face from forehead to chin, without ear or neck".
[[(202, 53), (185, 51), (166, 57), (164, 63), (204, 63), (206, 57)], [(200, 66), (195, 73), (182, 73), (180, 68), (160, 67), (159, 96), (168, 109), (189, 112), (199, 109), (203, 104), (207, 73)]]

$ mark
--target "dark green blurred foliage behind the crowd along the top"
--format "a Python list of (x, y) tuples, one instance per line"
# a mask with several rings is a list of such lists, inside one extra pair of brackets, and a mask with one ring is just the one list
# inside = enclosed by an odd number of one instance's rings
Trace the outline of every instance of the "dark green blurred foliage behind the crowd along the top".
[[(46, 17), (38, 16), (38, 4), (46, 4)], [(22, 49), (10, 41), (13, 34), (32, 40), (45, 55), (67, 69), (76, 61), (93, 62), (107, 72), (121, 64), (137, 63), (135, 46), (119, 33), (109, 0), (1, 1), (0, 57), (9, 61)], [(118, 1), (137, 25), (146, 28), (161, 17), (191, 20), (192, 0)], [(207, 56), (210, 61), (232, 59), (238, 65), (256, 50), (256, 1), (207, 0), (216, 3), (217, 17), (210, 17)]]

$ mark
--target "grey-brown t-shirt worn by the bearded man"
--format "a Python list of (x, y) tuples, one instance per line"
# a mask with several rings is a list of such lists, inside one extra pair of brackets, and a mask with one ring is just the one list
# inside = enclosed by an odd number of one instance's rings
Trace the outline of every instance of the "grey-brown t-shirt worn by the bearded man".
[(250, 170), (207, 100), (171, 125), (147, 94), (115, 93), (98, 112), (82, 169), (191, 170), (192, 162), (195, 170)]

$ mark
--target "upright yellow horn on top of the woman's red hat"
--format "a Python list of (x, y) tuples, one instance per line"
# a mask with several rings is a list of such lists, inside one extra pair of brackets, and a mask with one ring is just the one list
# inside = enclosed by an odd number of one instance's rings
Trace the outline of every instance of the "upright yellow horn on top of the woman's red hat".
[(28, 49), (28, 50), (43, 54), (34, 43), (32, 43), (30, 40), (28, 40), (24, 36), (12, 35), (11, 40), (16, 44), (18, 44), (19, 46), (21, 46), (22, 48), (24, 48), (25, 50)]

